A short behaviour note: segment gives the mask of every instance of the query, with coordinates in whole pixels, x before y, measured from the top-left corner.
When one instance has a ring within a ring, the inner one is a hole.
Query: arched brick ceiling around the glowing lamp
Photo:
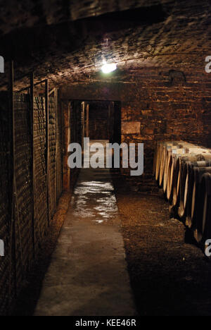
[[[112,80],[129,83],[143,68],[203,70],[211,55],[207,0],[20,3],[1,6],[0,20],[0,55],[15,61],[17,90],[30,71],[52,86],[109,81],[100,73],[107,59],[118,65]],[[1,89],[6,83],[1,75]]]

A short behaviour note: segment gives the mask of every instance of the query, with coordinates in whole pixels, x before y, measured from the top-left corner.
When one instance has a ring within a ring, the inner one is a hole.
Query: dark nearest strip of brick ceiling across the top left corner
[[[67,20],[100,16],[114,11],[166,4],[168,0],[3,0],[0,8],[0,33],[20,27],[55,25]]]

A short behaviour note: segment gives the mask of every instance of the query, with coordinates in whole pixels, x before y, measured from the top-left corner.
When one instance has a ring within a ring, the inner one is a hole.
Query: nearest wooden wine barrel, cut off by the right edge
[[[205,240],[211,237],[211,169],[209,173],[204,173],[201,178],[197,202],[194,236],[198,243],[204,244]]]

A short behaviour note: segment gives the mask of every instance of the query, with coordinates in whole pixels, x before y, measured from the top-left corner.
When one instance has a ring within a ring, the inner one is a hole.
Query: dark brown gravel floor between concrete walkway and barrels
[[[211,264],[185,243],[162,195],[134,193],[113,176],[129,276],[140,315],[210,316]]]

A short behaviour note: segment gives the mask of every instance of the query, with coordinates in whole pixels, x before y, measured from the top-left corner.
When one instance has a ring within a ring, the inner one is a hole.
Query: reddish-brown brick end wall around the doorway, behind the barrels
[[[110,82],[69,85],[61,97],[120,101],[122,142],[144,143],[145,173],[151,173],[158,140],[182,139],[211,147],[210,91],[211,74],[205,73],[202,62],[184,72],[143,68],[124,82],[114,75]]]

